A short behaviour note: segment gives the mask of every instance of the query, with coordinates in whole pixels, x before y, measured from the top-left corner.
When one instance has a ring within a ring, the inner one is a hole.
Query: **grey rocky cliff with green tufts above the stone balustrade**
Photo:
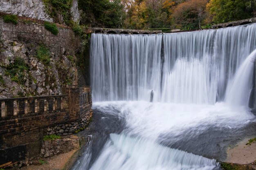
[[[36,21],[0,17],[0,98],[60,95],[67,84],[78,84],[79,42],[68,28],[53,35]]]

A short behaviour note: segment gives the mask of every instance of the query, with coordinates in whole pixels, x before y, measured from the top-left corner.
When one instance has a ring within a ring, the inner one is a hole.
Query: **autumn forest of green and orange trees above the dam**
[[[124,29],[201,29],[256,16],[256,0],[79,0],[80,24]]]

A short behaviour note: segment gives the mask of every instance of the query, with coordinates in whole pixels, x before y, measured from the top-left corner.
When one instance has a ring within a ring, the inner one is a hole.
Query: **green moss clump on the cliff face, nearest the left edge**
[[[16,57],[13,63],[6,66],[5,75],[9,75],[13,82],[25,84],[28,69],[24,59]]]

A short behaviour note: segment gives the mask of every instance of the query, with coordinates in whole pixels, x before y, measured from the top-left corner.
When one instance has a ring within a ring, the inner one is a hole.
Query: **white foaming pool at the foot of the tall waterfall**
[[[255,121],[255,116],[247,107],[233,108],[224,102],[215,105],[96,102],[94,108],[106,114],[118,114],[126,120],[127,133],[150,139],[157,139],[166,133],[179,136],[190,132],[193,136],[204,132],[207,127],[235,129]],[[115,110],[119,110],[119,113]]]

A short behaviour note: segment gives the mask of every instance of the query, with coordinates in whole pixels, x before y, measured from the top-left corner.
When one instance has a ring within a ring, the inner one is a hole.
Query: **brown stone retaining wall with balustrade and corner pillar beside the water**
[[[66,135],[66,125],[77,130],[88,126],[92,117],[90,88],[70,86],[66,93],[0,99],[0,167],[40,155],[43,136],[55,128],[58,132],[54,134]],[[58,127],[62,126],[65,130],[59,132]]]

